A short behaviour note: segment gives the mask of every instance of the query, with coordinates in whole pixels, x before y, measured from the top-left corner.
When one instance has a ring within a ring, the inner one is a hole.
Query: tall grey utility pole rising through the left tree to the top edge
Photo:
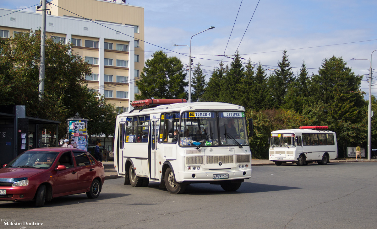
[[[46,0],[42,2],[42,26],[41,26],[41,60],[39,66],[39,93],[42,97],[44,93],[44,51],[46,44]]]

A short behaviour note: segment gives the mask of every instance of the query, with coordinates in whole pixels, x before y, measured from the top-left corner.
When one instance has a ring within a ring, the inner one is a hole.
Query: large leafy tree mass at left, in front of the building
[[[0,105],[25,105],[26,116],[60,121],[59,136],[67,134],[66,119],[79,113],[89,119],[90,135],[113,135],[114,107],[87,88],[90,65],[72,53],[72,44],[46,39],[44,93],[39,98],[40,31],[3,40],[0,58]],[[49,127],[55,134],[55,127]],[[51,143],[52,144],[52,143]]]

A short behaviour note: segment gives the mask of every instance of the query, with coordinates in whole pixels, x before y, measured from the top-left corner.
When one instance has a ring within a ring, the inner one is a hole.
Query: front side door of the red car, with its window
[[[60,165],[65,165],[67,169],[56,171],[56,174],[54,175],[55,187],[53,194],[76,191],[78,176],[77,169],[72,160],[72,152],[68,151],[61,154],[58,162]]]

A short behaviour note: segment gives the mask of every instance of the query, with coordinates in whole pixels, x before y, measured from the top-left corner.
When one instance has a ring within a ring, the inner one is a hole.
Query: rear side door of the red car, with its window
[[[95,166],[84,151],[73,151],[78,176],[77,190],[88,189],[95,176]]]

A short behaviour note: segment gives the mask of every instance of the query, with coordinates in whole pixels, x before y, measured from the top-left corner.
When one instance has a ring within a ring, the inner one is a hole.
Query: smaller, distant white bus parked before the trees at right
[[[336,134],[326,126],[305,126],[299,129],[271,132],[269,159],[275,165],[293,162],[307,165],[317,162],[326,165],[338,157]]]

